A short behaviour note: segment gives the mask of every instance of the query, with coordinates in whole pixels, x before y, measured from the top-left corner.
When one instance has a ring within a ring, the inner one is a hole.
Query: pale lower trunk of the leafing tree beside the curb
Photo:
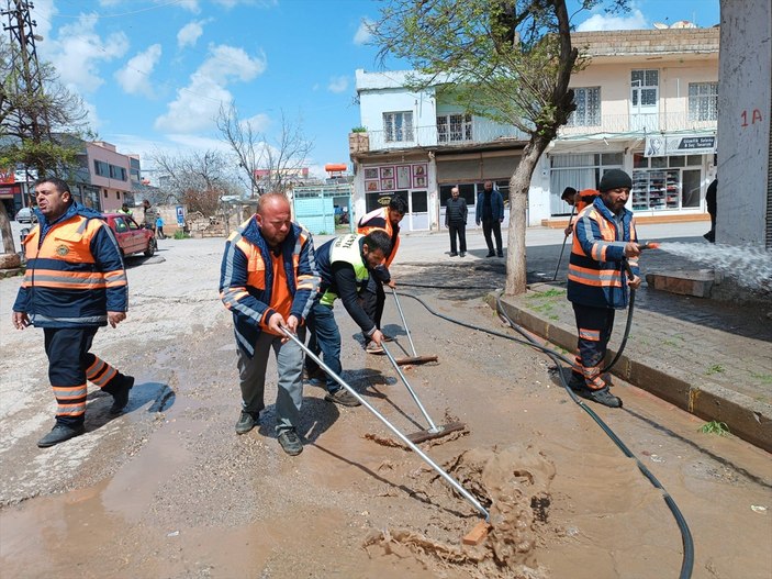
[[[533,137],[510,179],[510,231],[506,240],[506,286],[504,293],[517,296],[526,290],[525,230],[530,178],[549,140]]]

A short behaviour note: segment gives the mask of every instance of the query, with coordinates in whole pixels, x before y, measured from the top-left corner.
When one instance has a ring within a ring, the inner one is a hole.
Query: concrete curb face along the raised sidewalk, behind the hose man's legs
[[[489,293],[485,301],[495,310],[496,296]],[[529,332],[568,352],[575,350],[574,327],[547,320],[506,298],[502,298],[502,308],[513,322]],[[609,348],[608,352],[612,357],[616,356],[615,350]],[[624,354],[612,374],[695,416],[706,421],[724,422],[734,435],[772,453],[772,405],[770,404],[732,392],[719,385],[706,382],[703,376],[686,375],[678,368],[656,367],[654,364],[631,359]]]

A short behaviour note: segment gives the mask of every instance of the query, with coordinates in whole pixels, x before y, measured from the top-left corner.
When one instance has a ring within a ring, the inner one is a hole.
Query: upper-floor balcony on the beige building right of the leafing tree
[[[686,112],[654,114],[607,114],[598,124],[564,125],[560,138],[607,133],[674,133],[682,131],[715,131],[717,121],[697,121]]]

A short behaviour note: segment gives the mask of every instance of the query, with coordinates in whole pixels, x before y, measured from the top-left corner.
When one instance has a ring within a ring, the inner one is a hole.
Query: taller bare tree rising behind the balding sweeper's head
[[[290,122],[283,112],[281,131],[273,144],[257,131],[253,121],[239,119],[234,103],[220,108],[217,129],[238,159],[251,197],[270,191],[287,192],[313,149],[313,142],[305,138],[301,124]],[[258,169],[265,169],[260,176],[256,172]]]

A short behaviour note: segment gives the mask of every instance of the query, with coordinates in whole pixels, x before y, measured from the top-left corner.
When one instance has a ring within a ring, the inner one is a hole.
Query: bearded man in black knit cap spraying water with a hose
[[[625,209],[633,180],[620,169],[605,172],[596,197],[577,218],[569,260],[568,299],[579,332],[569,386],[579,396],[611,408],[622,400],[611,393],[601,368],[614,329],[614,311],[627,307],[629,289],[640,286],[640,255],[633,212]],[[629,263],[633,279],[625,275]]]

